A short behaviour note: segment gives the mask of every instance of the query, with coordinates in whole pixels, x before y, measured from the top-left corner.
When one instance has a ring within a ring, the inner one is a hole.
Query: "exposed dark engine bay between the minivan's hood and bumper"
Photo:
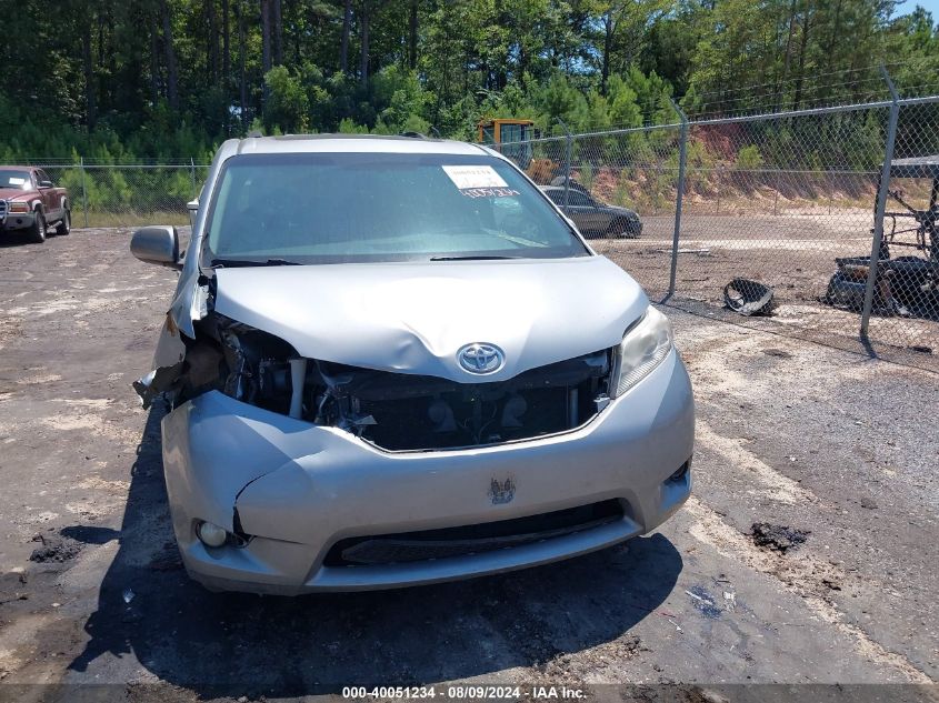
[[[303,359],[286,341],[216,312],[196,322],[196,335],[183,338],[169,384],[154,384],[152,374],[136,384],[144,403],[159,393],[179,404],[218,390],[388,451],[481,446],[580,426],[609,403],[615,362],[607,349],[507,381],[459,383]]]

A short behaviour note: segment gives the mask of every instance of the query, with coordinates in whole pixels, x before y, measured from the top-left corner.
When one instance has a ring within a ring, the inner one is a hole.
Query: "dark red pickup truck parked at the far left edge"
[[[0,234],[24,230],[33,242],[50,232],[68,234],[71,204],[64,188],[56,188],[42,169],[0,165]]]

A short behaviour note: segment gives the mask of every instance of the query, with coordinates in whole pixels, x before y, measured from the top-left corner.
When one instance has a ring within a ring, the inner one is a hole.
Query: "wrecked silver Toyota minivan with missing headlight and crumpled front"
[[[227,141],[153,370],[189,574],[299,594],[599,550],[688,499],[695,410],[666,317],[490,149]]]

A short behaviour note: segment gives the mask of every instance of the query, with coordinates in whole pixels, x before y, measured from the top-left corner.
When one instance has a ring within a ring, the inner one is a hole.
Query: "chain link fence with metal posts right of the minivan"
[[[939,371],[939,97],[681,118],[500,149],[653,301]]]

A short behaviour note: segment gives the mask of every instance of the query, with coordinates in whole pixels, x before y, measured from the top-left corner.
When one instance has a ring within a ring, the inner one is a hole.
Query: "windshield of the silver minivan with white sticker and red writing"
[[[242,154],[209,210],[204,265],[559,259],[589,252],[486,154]]]

